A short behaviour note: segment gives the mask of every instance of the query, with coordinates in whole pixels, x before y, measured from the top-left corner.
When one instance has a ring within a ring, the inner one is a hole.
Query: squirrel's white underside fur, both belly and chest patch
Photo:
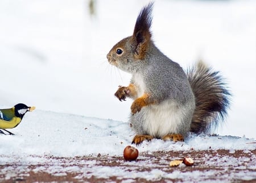
[[[138,96],[146,90],[143,78],[140,74],[134,74],[135,84],[138,86]],[[135,130],[138,133],[162,138],[167,134],[182,134],[180,127],[184,126],[184,119],[188,115],[188,106],[182,106],[174,100],[166,100],[159,105],[149,105],[142,107],[142,114],[137,114],[131,123],[136,123]],[[188,122],[189,124],[189,122]],[[138,129],[142,130],[138,130]],[[142,129],[141,129],[142,128]]]

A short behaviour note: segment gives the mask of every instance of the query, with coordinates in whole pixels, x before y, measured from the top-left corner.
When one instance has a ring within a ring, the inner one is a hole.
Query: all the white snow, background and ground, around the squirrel
[[[129,84],[130,75],[110,66],[106,54],[117,41],[132,34],[138,12],[147,2],[97,1],[96,15],[90,16],[88,2],[82,0],[0,1],[0,107],[36,106],[10,130],[16,135],[0,135],[0,165],[42,162],[52,164],[47,171],[58,172],[63,162],[51,162],[50,156],[122,156],[135,135],[127,123],[131,100],[121,103],[113,94],[118,85]],[[155,2],[152,33],[160,50],[183,68],[203,59],[221,70],[233,98],[226,122],[215,131],[220,135],[189,134],[185,142],[178,143],[153,139],[138,146],[139,152],[210,148],[250,153],[256,148],[255,6],[256,1],[249,0]],[[236,159],[226,161],[238,163]],[[145,175],[94,168],[96,161],[79,164],[98,177],[108,176],[108,172],[127,177],[127,182]],[[1,171],[13,177],[19,169],[11,168]],[[249,168],[254,173],[244,180],[256,176],[255,165]],[[215,176],[210,171],[166,174],[152,169],[146,178],[188,174]],[[243,177],[239,173],[232,176]]]

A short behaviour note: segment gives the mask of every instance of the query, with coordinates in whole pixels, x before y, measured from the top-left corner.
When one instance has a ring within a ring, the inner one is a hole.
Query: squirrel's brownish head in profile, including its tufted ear
[[[151,43],[151,22],[153,3],[143,7],[138,15],[132,36],[122,39],[107,55],[109,63],[126,72],[138,69],[144,61]]]

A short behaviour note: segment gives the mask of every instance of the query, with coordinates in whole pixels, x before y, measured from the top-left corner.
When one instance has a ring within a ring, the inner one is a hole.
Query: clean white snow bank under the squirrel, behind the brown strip
[[[36,110],[28,113],[15,135],[0,135],[0,154],[15,157],[45,156],[75,157],[88,155],[122,155],[135,135],[129,123],[97,119],[72,114]],[[254,139],[245,136],[189,134],[185,142],[164,142],[153,139],[138,145],[139,152],[189,151],[207,149],[250,150]]]

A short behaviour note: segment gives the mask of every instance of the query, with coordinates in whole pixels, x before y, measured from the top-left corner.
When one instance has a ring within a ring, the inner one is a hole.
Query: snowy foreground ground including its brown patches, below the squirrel
[[[39,173],[38,181],[44,180],[40,172],[52,178],[74,173],[82,182],[114,182],[106,181],[110,177],[122,182],[138,182],[138,178],[156,182],[256,180],[256,142],[245,137],[189,135],[185,142],[177,143],[153,139],[138,145],[137,161],[129,162],[122,158],[133,138],[127,123],[35,110],[11,131],[16,135],[0,135],[0,182],[26,180],[31,172]],[[218,154],[218,149],[228,153]],[[169,167],[170,161],[183,158],[183,153],[192,156],[195,166]],[[105,179],[84,180],[93,176]]]

